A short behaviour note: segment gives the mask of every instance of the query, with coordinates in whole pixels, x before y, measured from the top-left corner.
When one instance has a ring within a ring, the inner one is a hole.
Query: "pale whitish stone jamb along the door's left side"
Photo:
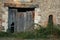
[[[2,15],[2,20],[3,20],[3,22],[2,22],[2,26],[4,27],[4,32],[6,32],[7,31],[7,29],[8,29],[8,8],[7,7],[3,7],[2,8],[3,9],[3,11],[4,11],[4,14]]]

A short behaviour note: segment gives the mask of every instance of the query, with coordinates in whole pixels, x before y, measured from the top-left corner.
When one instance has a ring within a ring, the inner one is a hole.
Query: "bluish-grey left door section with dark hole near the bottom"
[[[16,9],[9,9],[8,14],[8,30],[14,32],[16,30]]]

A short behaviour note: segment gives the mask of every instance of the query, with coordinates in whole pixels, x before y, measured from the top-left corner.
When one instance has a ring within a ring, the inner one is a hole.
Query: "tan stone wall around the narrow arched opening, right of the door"
[[[58,14],[60,11],[60,0],[39,0],[37,1],[40,8],[41,23],[46,26],[48,23],[49,15],[53,15],[54,24],[60,24]]]

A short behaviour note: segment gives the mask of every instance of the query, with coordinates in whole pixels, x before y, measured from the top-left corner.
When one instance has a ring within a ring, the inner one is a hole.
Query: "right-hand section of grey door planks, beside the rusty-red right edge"
[[[33,20],[33,12],[32,11],[27,11],[24,14],[24,30],[29,30],[33,27],[34,20]]]

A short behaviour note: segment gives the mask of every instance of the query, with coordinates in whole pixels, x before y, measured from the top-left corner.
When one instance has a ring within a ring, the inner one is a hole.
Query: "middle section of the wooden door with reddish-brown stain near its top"
[[[24,13],[16,13],[17,32],[23,31],[24,29]]]

